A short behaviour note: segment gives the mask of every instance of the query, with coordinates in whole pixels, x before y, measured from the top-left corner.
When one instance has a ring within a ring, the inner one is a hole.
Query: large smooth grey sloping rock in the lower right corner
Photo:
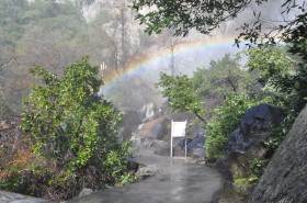
[[[275,151],[261,181],[252,193],[251,203],[307,202],[307,106]]]

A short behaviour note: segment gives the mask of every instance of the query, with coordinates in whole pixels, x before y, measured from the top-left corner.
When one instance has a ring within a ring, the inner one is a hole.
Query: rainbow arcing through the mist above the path
[[[225,36],[225,37],[212,37],[212,38],[204,38],[197,40],[194,42],[183,43],[175,46],[174,56],[184,56],[187,54],[196,54],[201,50],[208,52],[211,49],[221,49],[225,50],[227,48],[232,48],[235,43],[235,36]],[[239,50],[239,49],[238,49]],[[109,88],[114,84],[116,81],[121,80],[125,76],[135,76],[146,69],[152,68],[155,65],[158,65],[159,61],[162,59],[167,59],[171,56],[171,53],[168,48],[158,50],[150,55],[143,56],[141,59],[132,61],[125,71],[121,72],[112,72],[103,78],[105,84],[104,88]],[[211,58],[208,58],[211,59]],[[104,89],[103,88],[103,89]]]

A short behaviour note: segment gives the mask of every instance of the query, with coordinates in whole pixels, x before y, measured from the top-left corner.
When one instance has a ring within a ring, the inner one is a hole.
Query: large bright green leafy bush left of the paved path
[[[68,66],[61,79],[34,67],[32,72],[44,86],[35,84],[23,103],[21,127],[31,134],[33,150],[42,160],[33,172],[68,196],[76,192],[65,188],[69,184],[76,190],[101,188],[126,176],[129,145],[117,137],[122,113],[96,95],[102,84],[98,71],[88,58]],[[54,167],[45,168],[48,165]],[[88,176],[92,176],[89,182]]]

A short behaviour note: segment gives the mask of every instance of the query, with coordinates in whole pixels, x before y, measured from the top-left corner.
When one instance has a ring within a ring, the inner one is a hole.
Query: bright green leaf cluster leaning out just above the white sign
[[[168,98],[173,111],[194,113],[204,121],[202,115],[205,110],[193,89],[192,80],[186,75],[171,77],[161,74],[160,81],[156,86],[163,88],[161,94]]]

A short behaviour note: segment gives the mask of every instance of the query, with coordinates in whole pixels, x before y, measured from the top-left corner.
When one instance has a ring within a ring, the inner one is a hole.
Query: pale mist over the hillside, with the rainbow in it
[[[221,23],[203,35],[191,31],[187,37],[172,36],[172,31],[148,36],[129,9],[132,1],[76,0],[21,1],[3,4],[3,24],[0,32],[0,84],[7,106],[18,111],[21,99],[36,82],[29,74],[34,65],[60,76],[65,67],[84,55],[92,64],[105,64],[102,91],[106,100],[120,108],[139,109],[163,99],[154,84],[160,72],[192,75],[198,67],[207,68],[211,60],[225,54],[236,54],[246,47],[235,46],[240,25],[261,12],[269,19],[266,26],[296,13],[281,16],[281,2],[270,1],[261,7],[251,4],[234,20]],[[12,12],[10,11],[12,10]],[[13,10],[19,10],[15,16]],[[270,20],[271,19],[271,20]],[[8,26],[7,26],[8,25]],[[2,69],[2,68],[0,68]]]

